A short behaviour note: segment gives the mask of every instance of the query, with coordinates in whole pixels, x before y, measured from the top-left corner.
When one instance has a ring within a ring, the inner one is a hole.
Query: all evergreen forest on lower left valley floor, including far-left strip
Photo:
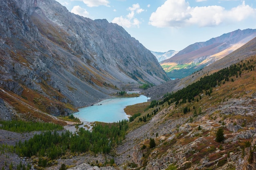
[[[60,131],[63,129],[60,125],[51,128],[53,124],[50,123],[34,124],[15,120],[1,121],[0,123],[2,124],[1,129],[9,129],[9,131],[29,132],[33,128],[44,131],[25,142],[18,142],[11,150],[20,157],[38,156],[38,165],[46,167],[47,161],[57,159],[67,152],[110,153],[111,149],[125,138],[128,129],[127,122],[128,120],[111,124],[96,123],[92,131],[79,128],[78,132],[74,134],[70,131]],[[22,126],[24,127],[22,128]],[[8,146],[2,145],[2,151],[7,149],[10,150]]]

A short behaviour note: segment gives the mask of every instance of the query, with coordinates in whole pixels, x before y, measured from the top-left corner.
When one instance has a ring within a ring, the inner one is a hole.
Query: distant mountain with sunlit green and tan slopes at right
[[[184,78],[240,48],[256,37],[256,29],[236,30],[191,44],[160,64],[171,78]]]

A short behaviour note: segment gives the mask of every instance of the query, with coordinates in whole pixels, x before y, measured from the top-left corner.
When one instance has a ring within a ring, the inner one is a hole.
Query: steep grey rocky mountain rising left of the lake
[[[0,19],[0,98],[19,116],[66,115],[169,80],[124,28],[70,13],[55,0],[1,0]]]

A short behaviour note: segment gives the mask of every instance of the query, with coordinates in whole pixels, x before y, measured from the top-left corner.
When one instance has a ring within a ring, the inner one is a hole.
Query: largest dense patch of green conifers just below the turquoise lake
[[[83,153],[92,151],[93,153],[110,153],[115,144],[119,144],[124,139],[128,129],[128,120],[122,120],[113,124],[96,124],[92,132],[80,128],[77,133],[70,131],[58,133],[57,131],[46,131],[34,135],[33,138],[25,142],[18,142],[15,151],[21,157],[48,157],[56,159],[65,155],[67,151],[72,153]]]

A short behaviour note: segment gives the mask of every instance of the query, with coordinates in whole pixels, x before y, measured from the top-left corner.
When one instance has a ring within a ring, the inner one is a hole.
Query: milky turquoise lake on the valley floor
[[[128,115],[124,112],[126,106],[147,101],[148,98],[143,95],[134,98],[110,98],[93,106],[83,107],[73,115],[82,122],[119,122],[119,120],[128,119]]]

